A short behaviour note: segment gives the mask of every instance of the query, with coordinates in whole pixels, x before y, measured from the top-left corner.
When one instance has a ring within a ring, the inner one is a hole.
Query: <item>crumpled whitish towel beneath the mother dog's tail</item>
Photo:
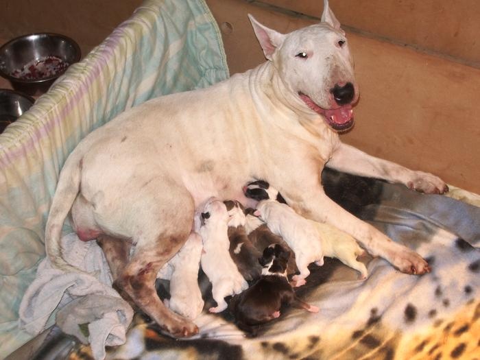
[[[20,304],[20,326],[38,335],[58,309],[56,320],[62,331],[90,343],[95,359],[104,359],[105,346],[125,342],[132,308],[112,289],[110,269],[96,241],[80,241],[75,234],[61,241],[64,259],[91,274],[66,273],[44,259]],[[88,336],[82,333],[86,324]]]

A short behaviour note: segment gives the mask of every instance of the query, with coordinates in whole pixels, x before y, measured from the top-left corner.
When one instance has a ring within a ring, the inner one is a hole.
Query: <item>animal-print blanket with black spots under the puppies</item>
[[[107,359],[477,359],[480,353],[480,197],[453,188],[451,196],[424,195],[402,185],[326,169],[324,187],[348,211],[394,241],[419,252],[432,271],[398,272],[387,261],[365,259],[369,277],[325,258],[311,265],[298,296],[319,313],[285,309],[248,338],[228,311],[215,305],[201,274],[206,299],[195,323],[200,334],[173,340],[137,314],[126,344]],[[466,202],[470,202],[467,204]],[[476,204],[477,206],[475,206]],[[159,284],[167,296],[168,283]],[[80,346],[69,359],[88,359]]]

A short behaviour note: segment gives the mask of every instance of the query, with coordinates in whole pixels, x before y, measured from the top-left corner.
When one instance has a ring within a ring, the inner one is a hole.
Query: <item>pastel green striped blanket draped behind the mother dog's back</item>
[[[45,257],[45,223],[72,149],[126,108],[228,75],[204,1],[146,0],[0,134],[1,359],[32,337],[19,327],[19,306]]]

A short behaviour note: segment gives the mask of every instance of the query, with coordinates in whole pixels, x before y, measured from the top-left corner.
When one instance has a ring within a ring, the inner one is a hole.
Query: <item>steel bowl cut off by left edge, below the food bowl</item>
[[[0,134],[13,123],[23,112],[27,111],[35,102],[33,97],[0,88]]]

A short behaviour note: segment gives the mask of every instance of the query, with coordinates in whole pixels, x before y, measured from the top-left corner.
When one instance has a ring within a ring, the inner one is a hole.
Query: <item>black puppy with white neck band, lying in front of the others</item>
[[[251,287],[230,300],[229,310],[235,315],[237,326],[250,335],[256,335],[261,324],[280,316],[282,305],[305,309],[313,313],[318,308],[297,298],[286,275],[290,252],[272,244],[259,258],[262,276]]]

